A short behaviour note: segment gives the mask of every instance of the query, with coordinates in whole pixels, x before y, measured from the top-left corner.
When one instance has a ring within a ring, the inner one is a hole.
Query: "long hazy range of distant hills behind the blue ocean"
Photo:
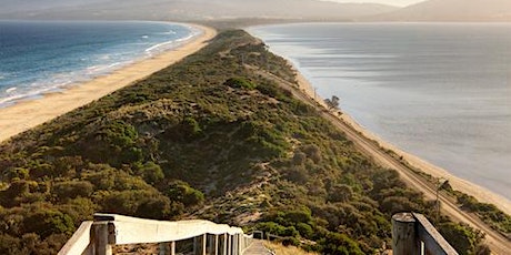
[[[317,0],[94,0],[12,1],[2,3],[3,19],[217,20],[233,18],[349,20],[395,10],[383,4]]]

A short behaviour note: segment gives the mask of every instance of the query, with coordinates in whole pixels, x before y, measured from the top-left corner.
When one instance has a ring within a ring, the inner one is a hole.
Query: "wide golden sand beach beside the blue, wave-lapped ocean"
[[[0,109],[0,143],[182,60],[206,47],[217,34],[217,31],[209,27],[184,26],[200,30],[201,33],[174,49],[137,61],[109,74],[72,84],[59,92],[46,93],[41,99],[20,101]]]

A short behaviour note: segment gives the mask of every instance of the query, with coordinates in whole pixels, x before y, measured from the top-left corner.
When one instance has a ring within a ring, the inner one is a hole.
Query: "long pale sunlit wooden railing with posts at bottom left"
[[[193,254],[241,255],[252,236],[239,227],[192,220],[164,222],[94,214],[84,222],[59,252],[59,255],[110,255],[113,245],[159,244],[159,254],[176,254],[176,242],[193,238]],[[198,242],[200,239],[200,242]]]

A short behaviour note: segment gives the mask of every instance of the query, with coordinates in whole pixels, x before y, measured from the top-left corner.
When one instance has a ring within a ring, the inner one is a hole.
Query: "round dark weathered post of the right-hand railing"
[[[415,218],[411,213],[398,213],[392,216],[393,255],[419,254],[415,236]]]

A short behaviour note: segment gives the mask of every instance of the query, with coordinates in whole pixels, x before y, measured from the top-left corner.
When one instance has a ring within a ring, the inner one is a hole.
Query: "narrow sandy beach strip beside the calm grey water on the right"
[[[308,96],[313,99],[317,103],[321,104],[322,106],[327,108],[324,100],[314,93],[314,89],[312,84],[307,80],[307,78],[298,70],[294,64],[288,60],[288,63],[295,70],[297,81],[299,84],[299,90],[305,93]],[[511,202],[494,193],[489,191],[485,187],[471,183],[467,180],[461,177],[454,176],[453,174],[449,173],[447,170],[435,166],[434,164],[427,162],[419,156],[415,156],[411,153],[408,153],[398,146],[384,141],[383,139],[379,137],[377,134],[372,133],[371,131],[367,130],[357,121],[345,113],[342,110],[337,111],[340,114],[332,114],[335,115],[337,119],[350,125],[354,131],[359,132],[362,136],[368,137],[369,140],[375,141],[381,147],[393,151],[398,155],[402,156],[404,161],[407,161],[411,166],[418,169],[419,171],[431,175],[434,178],[445,178],[449,180],[449,184],[452,186],[453,190],[462,192],[464,194],[471,195],[475,197],[481,203],[489,203],[495,205],[499,210],[504,212],[508,215],[511,215]]]

